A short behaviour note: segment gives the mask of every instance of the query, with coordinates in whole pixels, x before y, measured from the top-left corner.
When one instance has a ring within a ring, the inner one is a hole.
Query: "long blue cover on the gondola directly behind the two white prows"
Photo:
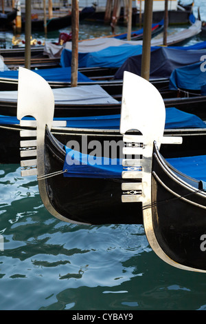
[[[171,128],[206,128],[206,124],[194,114],[182,112],[176,108],[166,108],[165,129]],[[29,119],[25,117],[24,119]],[[54,120],[66,120],[68,128],[94,128],[119,130],[120,114],[94,117],[62,117]],[[0,115],[0,125],[19,124],[16,117]]]

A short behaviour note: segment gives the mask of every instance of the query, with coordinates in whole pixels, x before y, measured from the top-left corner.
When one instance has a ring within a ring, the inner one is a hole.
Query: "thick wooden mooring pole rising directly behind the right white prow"
[[[141,55],[141,77],[150,79],[150,47],[152,34],[152,0],[145,1],[144,5],[144,23],[143,23],[143,44]]]

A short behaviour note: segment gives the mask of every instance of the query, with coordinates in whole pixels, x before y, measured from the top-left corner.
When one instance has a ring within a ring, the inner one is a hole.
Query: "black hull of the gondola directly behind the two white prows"
[[[2,123],[0,117],[0,163],[20,163],[21,156],[19,154],[19,142],[21,141],[20,134],[26,130],[35,130],[34,125],[23,126],[19,123],[10,121],[10,117],[5,117],[8,122]],[[56,125],[62,123],[62,125]],[[51,133],[55,139],[60,141],[62,145],[69,145],[68,143],[78,142],[80,147],[84,145],[84,140],[87,143],[95,143],[96,139],[104,145],[104,142],[117,145],[117,152],[122,147],[122,135],[119,130],[112,128],[84,128],[80,125],[76,127],[65,127],[64,119],[55,119],[52,125]],[[170,128],[165,129],[165,136],[182,136],[182,145],[161,145],[160,152],[166,158],[175,158],[176,156],[192,156],[192,155],[206,155],[206,128]],[[31,138],[32,139],[32,138]],[[116,144],[115,144],[116,143]],[[121,144],[121,146],[120,146]]]

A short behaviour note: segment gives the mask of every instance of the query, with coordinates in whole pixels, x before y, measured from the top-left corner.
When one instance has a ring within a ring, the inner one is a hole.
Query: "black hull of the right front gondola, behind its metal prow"
[[[155,150],[152,160],[152,225],[163,253],[178,267],[206,270],[206,192],[179,174]]]

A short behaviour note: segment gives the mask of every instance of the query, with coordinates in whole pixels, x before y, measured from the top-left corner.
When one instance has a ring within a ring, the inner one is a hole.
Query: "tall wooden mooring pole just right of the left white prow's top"
[[[71,87],[78,84],[79,1],[71,1]]]

